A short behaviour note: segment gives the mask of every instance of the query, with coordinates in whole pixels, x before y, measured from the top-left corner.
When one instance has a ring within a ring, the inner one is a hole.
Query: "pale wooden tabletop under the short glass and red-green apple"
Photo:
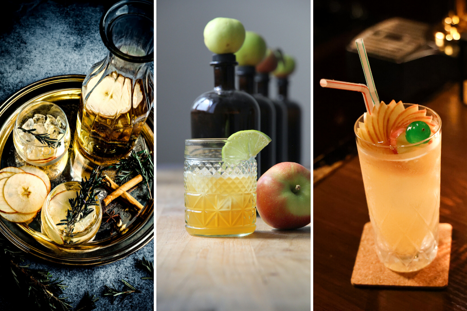
[[[185,230],[183,168],[157,168],[158,311],[311,309],[311,226],[253,234],[191,236]]]

